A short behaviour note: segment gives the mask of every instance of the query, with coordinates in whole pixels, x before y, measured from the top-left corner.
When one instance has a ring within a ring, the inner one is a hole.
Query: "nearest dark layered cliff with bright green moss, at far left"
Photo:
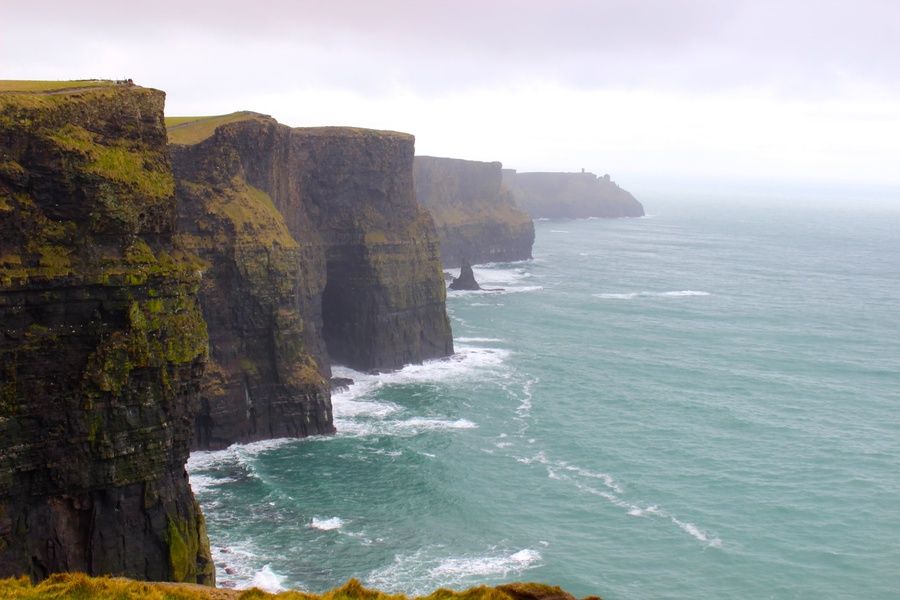
[[[207,331],[164,94],[28,83],[0,91],[0,576],[212,583],[184,469]]]

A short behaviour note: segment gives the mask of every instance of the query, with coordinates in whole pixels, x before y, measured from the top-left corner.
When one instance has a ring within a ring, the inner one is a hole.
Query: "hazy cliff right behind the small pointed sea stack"
[[[531,258],[534,223],[501,170],[498,162],[416,157],[416,199],[434,218],[445,267]]]

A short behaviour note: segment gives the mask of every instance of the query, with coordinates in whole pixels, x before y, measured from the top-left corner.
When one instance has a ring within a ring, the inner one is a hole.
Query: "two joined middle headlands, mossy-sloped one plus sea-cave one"
[[[255,113],[171,123],[179,239],[211,265],[199,447],[333,431],[332,360],[384,370],[452,353],[412,136]]]

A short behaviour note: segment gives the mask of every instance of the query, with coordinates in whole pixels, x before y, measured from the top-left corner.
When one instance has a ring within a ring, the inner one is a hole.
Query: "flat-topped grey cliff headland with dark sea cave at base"
[[[453,353],[438,238],[413,189],[414,143],[390,131],[291,131],[300,194],[276,204],[306,210],[322,236],[323,336],[331,357],[356,369]]]

